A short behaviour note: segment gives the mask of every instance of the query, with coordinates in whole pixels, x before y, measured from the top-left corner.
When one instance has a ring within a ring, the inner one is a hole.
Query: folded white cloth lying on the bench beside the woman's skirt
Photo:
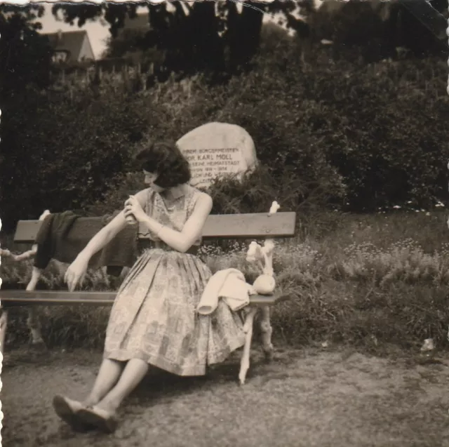
[[[210,277],[196,310],[201,315],[212,314],[222,298],[234,311],[238,311],[250,303],[250,295],[256,292],[245,281],[245,276],[238,269],[219,270]]]

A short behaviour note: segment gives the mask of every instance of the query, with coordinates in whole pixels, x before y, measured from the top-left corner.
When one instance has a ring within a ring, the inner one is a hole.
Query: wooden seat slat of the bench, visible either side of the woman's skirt
[[[112,305],[116,292],[0,291],[1,307],[25,305]],[[250,305],[273,305],[276,295],[251,295]]]

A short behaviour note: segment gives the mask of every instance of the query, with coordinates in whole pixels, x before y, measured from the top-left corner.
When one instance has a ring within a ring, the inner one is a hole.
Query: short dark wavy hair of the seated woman
[[[189,182],[192,178],[189,162],[173,142],[154,142],[135,156],[140,168],[156,173],[154,183],[161,188],[171,188]]]

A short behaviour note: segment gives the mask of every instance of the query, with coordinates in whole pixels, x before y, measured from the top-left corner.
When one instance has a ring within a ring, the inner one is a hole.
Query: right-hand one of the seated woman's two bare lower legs
[[[145,377],[149,369],[146,361],[131,359],[126,364],[119,382],[116,386],[98,403],[98,407],[106,411],[115,412],[119,408],[123,399],[135,389]]]

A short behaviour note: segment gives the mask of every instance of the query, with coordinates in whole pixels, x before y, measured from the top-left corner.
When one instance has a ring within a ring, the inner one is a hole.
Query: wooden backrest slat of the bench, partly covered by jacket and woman
[[[79,218],[76,226],[100,229],[102,218]],[[203,229],[203,239],[262,239],[295,236],[296,213],[215,214],[210,215]],[[33,243],[42,222],[19,220],[14,241]],[[129,227],[129,231],[134,231]]]

